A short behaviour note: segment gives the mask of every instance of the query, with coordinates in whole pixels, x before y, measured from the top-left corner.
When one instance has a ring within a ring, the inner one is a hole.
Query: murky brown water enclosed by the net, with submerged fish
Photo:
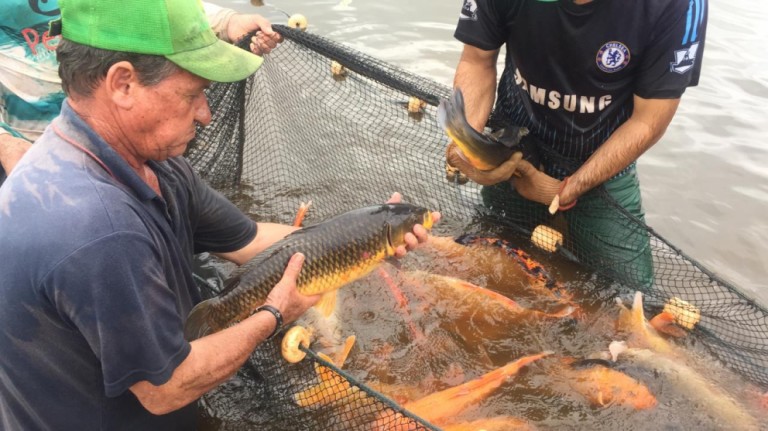
[[[665,355],[701,376],[705,383],[695,389],[717,393],[706,399],[735,400],[739,409],[754,417],[750,428],[729,423],[696,402],[694,389],[664,372],[621,359],[613,364],[617,374],[608,381],[615,382],[619,372],[625,373],[632,385],[652,394],[654,407],[633,408],[612,399],[626,393],[628,400],[647,401],[649,397],[639,395],[635,387],[621,385],[626,392],[615,393],[606,387],[601,391],[593,382],[586,383],[587,390],[578,387],[578,382],[596,375],[600,364],[605,364],[580,361],[605,352],[613,340],[627,339],[617,332],[619,308],[612,295],[601,297],[610,289],[568,262],[554,261],[543,253],[531,256],[544,263],[547,276],[535,276],[501,248],[465,248],[450,239],[438,240],[399,261],[399,268],[384,264],[342,288],[338,323],[332,328],[303,318],[300,324],[315,328],[312,348],[335,356],[342,341],[354,335],[344,371],[401,404],[479,378],[521,357],[553,352],[504,379],[471,407],[461,409],[460,403],[447,400],[455,405],[451,420],[456,422],[505,416],[542,430],[654,431],[757,430],[757,421],[768,423],[768,410],[760,407],[760,390],[712,360],[693,339],[671,341],[680,350]],[[475,286],[514,298],[523,308],[481,293]],[[569,360],[577,361],[576,366],[568,365]],[[254,402],[237,387],[219,392],[216,399],[219,411],[237,411]],[[338,406],[313,408],[323,414],[324,409]],[[223,428],[207,429],[243,429],[243,425],[238,419],[225,421]],[[269,423],[259,425],[272,429]]]

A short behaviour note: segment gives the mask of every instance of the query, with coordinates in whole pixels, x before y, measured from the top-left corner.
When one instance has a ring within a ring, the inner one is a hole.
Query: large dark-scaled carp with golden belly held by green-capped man
[[[267,299],[295,253],[305,256],[296,283],[303,295],[324,294],[318,305],[334,304],[336,290],[371,272],[421,224],[432,227],[432,212],[410,204],[353,210],[294,231],[243,264],[216,297],[197,304],[184,328],[194,340],[245,319]]]

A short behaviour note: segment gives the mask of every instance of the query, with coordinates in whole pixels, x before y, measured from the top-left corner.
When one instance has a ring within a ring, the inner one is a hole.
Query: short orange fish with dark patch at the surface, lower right
[[[570,389],[596,407],[620,405],[636,410],[656,406],[656,397],[642,382],[611,368],[608,361],[565,359],[551,372],[561,376]]]

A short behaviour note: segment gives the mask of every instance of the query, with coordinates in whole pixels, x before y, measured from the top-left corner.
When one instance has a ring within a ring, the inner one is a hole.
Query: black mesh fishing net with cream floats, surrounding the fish
[[[213,120],[187,154],[255,220],[291,223],[299,204],[313,201],[305,221],[311,225],[398,191],[404,201],[442,213],[438,233],[493,232],[534,253],[555,250],[553,256],[589,274],[582,280],[595,296],[640,290],[648,312],[674,301],[691,304],[696,312],[683,314],[680,324],[693,328],[697,343],[768,386],[768,311],[622,209],[604,188],[555,216],[543,205],[484,205],[479,186],[446,178],[447,138],[436,107],[450,88],[309,32],[275,28],[285,42],[256,74],[208,91]],[[598,214],[600,232],[594,218],[580,217],[589,214]],[[613,253],[616,244],[602,247],[606,237],[633,251]],[[376,429],[371,424],[386,417],[399,418],[399,428],[380,429],[437,429],[311,351],[288,364],[277,343],[254,352],[225,384],[230,391],[203,399],[205,415],[219,429]],[[300,407],[297,394],[318,383],[316,366],[337,373],[337,391],[345,395],[325,408]],[[233,388],[249,394],[248,404],[223,411]]]

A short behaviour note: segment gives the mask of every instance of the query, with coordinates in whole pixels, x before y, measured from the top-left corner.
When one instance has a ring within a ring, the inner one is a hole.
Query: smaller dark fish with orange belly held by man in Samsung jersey
[[[489,171],[506,162],[513,153],[525,155],[521,139],[528,134],[524,127],[509,127],[499,136],[485,135],[467,122],[464,113],[464,95],[456,88],[450,100],[443,100],[437,107],[437,121],[445,133],[461,150],[464,160],[482,171]],[[535,163],[534,163],[535,165]]]

